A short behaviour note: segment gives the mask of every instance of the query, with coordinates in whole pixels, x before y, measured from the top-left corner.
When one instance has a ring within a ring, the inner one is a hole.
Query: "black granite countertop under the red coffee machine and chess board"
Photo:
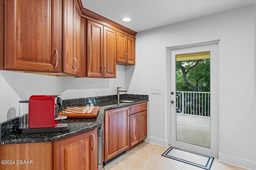
[[[146,96],[146,95],[145,95]],[[124,100],[124,99],[123,99]],[[83,133],[86,131],[90,131],[97,127],[101,127],[104,121],[104,111],[108,109],[114,109],[118,107],[125,107],[134,104],[140,104],[143,102],[148,102],[148,99],[128,99],[125,100],[133,100],[132,103],[126,102],[118,102],[117,100],[108,100],[107,102],[96,102],[94,106],[100,106],[97,117],[95,118],[87,118],[87,119],[64,119],[60,120],[59,123],[66,123],[70,125],[70,130],[61,132],[61,133],[34,133],[34,134],[18,134],[16,131],[12,131],[8,134],[8,137],[0,140],[0,145],[6,144],[19,144],[19,143],[40,143],[40,142],[52,142],[58,141],[60,139],[64,139],[66,137],[70,137],[73,135],[77,135],[79,133]],[[74,101],[74,100],[73,100]],[[74,104],[74,103],[73,103]],[[75,105],[73,105],[75,106]],[[85,104],[84,104],[85,106]],[[15,122],[15,119],[12,122]],[[16,125],[17,126],[17,125]],[[13,127],[13,125],[12,125]],[[3,128],[3,126],[2,126]]]

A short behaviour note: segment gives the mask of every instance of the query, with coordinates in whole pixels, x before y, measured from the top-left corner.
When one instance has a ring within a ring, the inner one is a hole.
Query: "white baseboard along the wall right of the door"
[[[230,156],[227,154],[219,153],[219,162],[238,166],[240,168],[245,168],[248,170],[256,170],[256,162],[251,160],[246,160],[243,158],[238,158],[235,156]]]

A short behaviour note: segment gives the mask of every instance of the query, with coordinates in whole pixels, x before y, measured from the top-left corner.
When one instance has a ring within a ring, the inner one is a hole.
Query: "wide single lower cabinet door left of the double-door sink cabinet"
[[[105,161],[129,148],[129,107],[105,111]]]

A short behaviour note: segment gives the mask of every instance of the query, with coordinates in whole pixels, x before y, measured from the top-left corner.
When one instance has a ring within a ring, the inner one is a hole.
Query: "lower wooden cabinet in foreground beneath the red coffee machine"
[[[0,170],[97,170],[97,130],[54,142],[0,145],[0,160],[6,160]]]

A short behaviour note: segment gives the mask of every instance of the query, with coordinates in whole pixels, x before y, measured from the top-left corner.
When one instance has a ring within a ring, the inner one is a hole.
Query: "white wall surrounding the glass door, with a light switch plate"
[[[148,94],[148,140],[166,142],[166,47],[220,39],[220,161],[256,168],[254,6],[136,35],[136,66],[126,67],[130,94]],[[162,95],[152,95],[161,88]],[[216,139],[218,142],[218,139]]]

